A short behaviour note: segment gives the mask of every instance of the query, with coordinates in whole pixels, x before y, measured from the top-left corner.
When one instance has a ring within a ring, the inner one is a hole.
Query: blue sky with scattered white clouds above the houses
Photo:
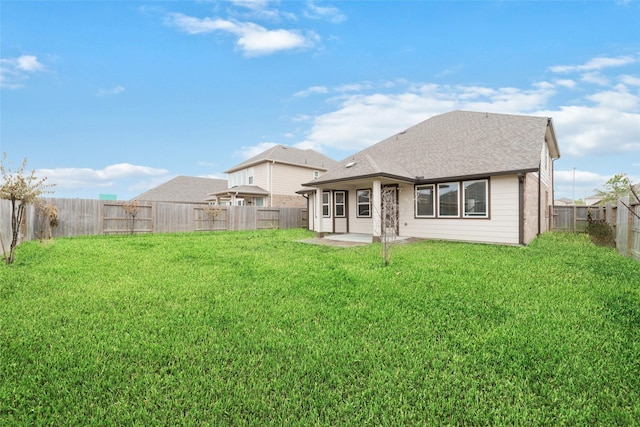
[[[556,198],[640,182],[637,1],[2,0],[0,28],[0,151],[56,197],[341,160],[456,109],[552,117]]]

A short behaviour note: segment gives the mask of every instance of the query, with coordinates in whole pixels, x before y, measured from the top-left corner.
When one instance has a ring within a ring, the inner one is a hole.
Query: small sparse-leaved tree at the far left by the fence
[[[45,184],[47,178],[38,178],[35,171],[25,174],[27,167],[27,158],[22,165],[12,170],[7,162],[7,153],[4,153],[0,161],[0,174],[2,181],[0,182],[0,199],[9,200],[11,202],[11,244],[7,253],[2,247],[2,255],[7,264],[11,264],[15,257],[15,248],[20,240],[20,226],[24,219],[24,213],[28,205],[34,203],[38,197],[47,192],[47,188],[51,185]],[[2,238],[0,236],[0,242]]]

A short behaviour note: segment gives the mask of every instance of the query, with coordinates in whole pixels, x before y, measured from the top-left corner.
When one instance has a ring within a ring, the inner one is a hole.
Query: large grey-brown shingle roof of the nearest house
[[[386,176],[410,182],[538,170],[545,139],[560,157],[550,118],[452,111],[350,156],[304,183]]]

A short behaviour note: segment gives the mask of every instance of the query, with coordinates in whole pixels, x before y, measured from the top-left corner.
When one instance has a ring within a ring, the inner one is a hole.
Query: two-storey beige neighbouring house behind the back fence
[[[337,165],[314,150],[276,145],[225,171],[229,186],[211,191],[207,200],[218,205],[306,207],[297,193],[300,183]]]

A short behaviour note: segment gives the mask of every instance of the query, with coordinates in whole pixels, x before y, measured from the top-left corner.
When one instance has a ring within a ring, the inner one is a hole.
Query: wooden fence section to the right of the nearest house
[[[616,249],[625,256],[640,261],[640,203],[632,198],[620,199],[605,206],[552,206],[553,231],[585,232],[589,214],[597,221],[605,221],[614,228]]]

